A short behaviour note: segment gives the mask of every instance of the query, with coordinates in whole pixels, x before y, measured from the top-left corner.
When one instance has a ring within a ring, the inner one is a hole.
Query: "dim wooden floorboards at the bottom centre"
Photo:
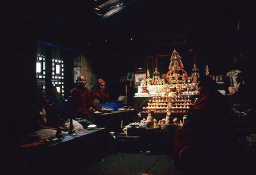
[[[186,174],[177,170],[170,155],[146,155],[118,152],[88,164],[72,174]]]

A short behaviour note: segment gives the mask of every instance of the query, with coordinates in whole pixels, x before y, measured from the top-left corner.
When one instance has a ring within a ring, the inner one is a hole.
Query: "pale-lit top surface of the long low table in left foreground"
[[[50,146],[54,146],[54,145],[61,144],[63,142],[71,141],[72,139],[80,138],[82,136],[89,135],[90,133],[102,131],[103,129],[105,129],[105,128],[83,129],[83,130],[77,131],[76,135],[68,135],[68,134],[63,135],[64,136],[63,139],[57,139],[56,141],[53,141],[52,139],[50,139]]]

